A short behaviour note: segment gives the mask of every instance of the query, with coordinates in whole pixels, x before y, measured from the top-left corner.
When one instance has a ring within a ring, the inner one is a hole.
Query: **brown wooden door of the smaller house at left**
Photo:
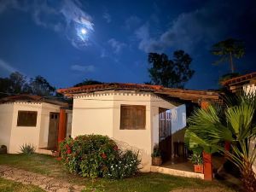
[[[48,148],[57,149],[60,113],[49,113]]]

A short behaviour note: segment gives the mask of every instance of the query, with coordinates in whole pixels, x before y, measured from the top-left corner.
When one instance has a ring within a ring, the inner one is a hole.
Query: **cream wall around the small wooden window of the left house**
[[[42,104],[34,102],[15,102],[14,113],[12,119],[12,130],[9,143],[9,153],[20,153],[20,146],[27,143],[32,144],[38,149]],[[36,126],[17,126],[18,111],[37,111],[37,125]]]

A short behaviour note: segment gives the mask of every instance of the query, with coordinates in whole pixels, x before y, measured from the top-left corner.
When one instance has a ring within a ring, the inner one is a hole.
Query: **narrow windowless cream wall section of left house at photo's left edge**
[[[8,152],[13,123],[13,112],[13,103],[0,104],[0,145],[7,146]]]

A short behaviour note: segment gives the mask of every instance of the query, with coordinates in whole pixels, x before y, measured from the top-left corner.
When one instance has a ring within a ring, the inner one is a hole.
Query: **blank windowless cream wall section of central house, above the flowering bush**
[[[92,133],[113,137],[113,95],[109,93],[73,98],[72,137]]]

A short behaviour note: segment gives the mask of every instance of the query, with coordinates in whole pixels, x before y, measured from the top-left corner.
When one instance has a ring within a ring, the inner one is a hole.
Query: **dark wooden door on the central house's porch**
[[[163,162],[172,157],[172,115],[165,108],[159,109],[159,147]]]

